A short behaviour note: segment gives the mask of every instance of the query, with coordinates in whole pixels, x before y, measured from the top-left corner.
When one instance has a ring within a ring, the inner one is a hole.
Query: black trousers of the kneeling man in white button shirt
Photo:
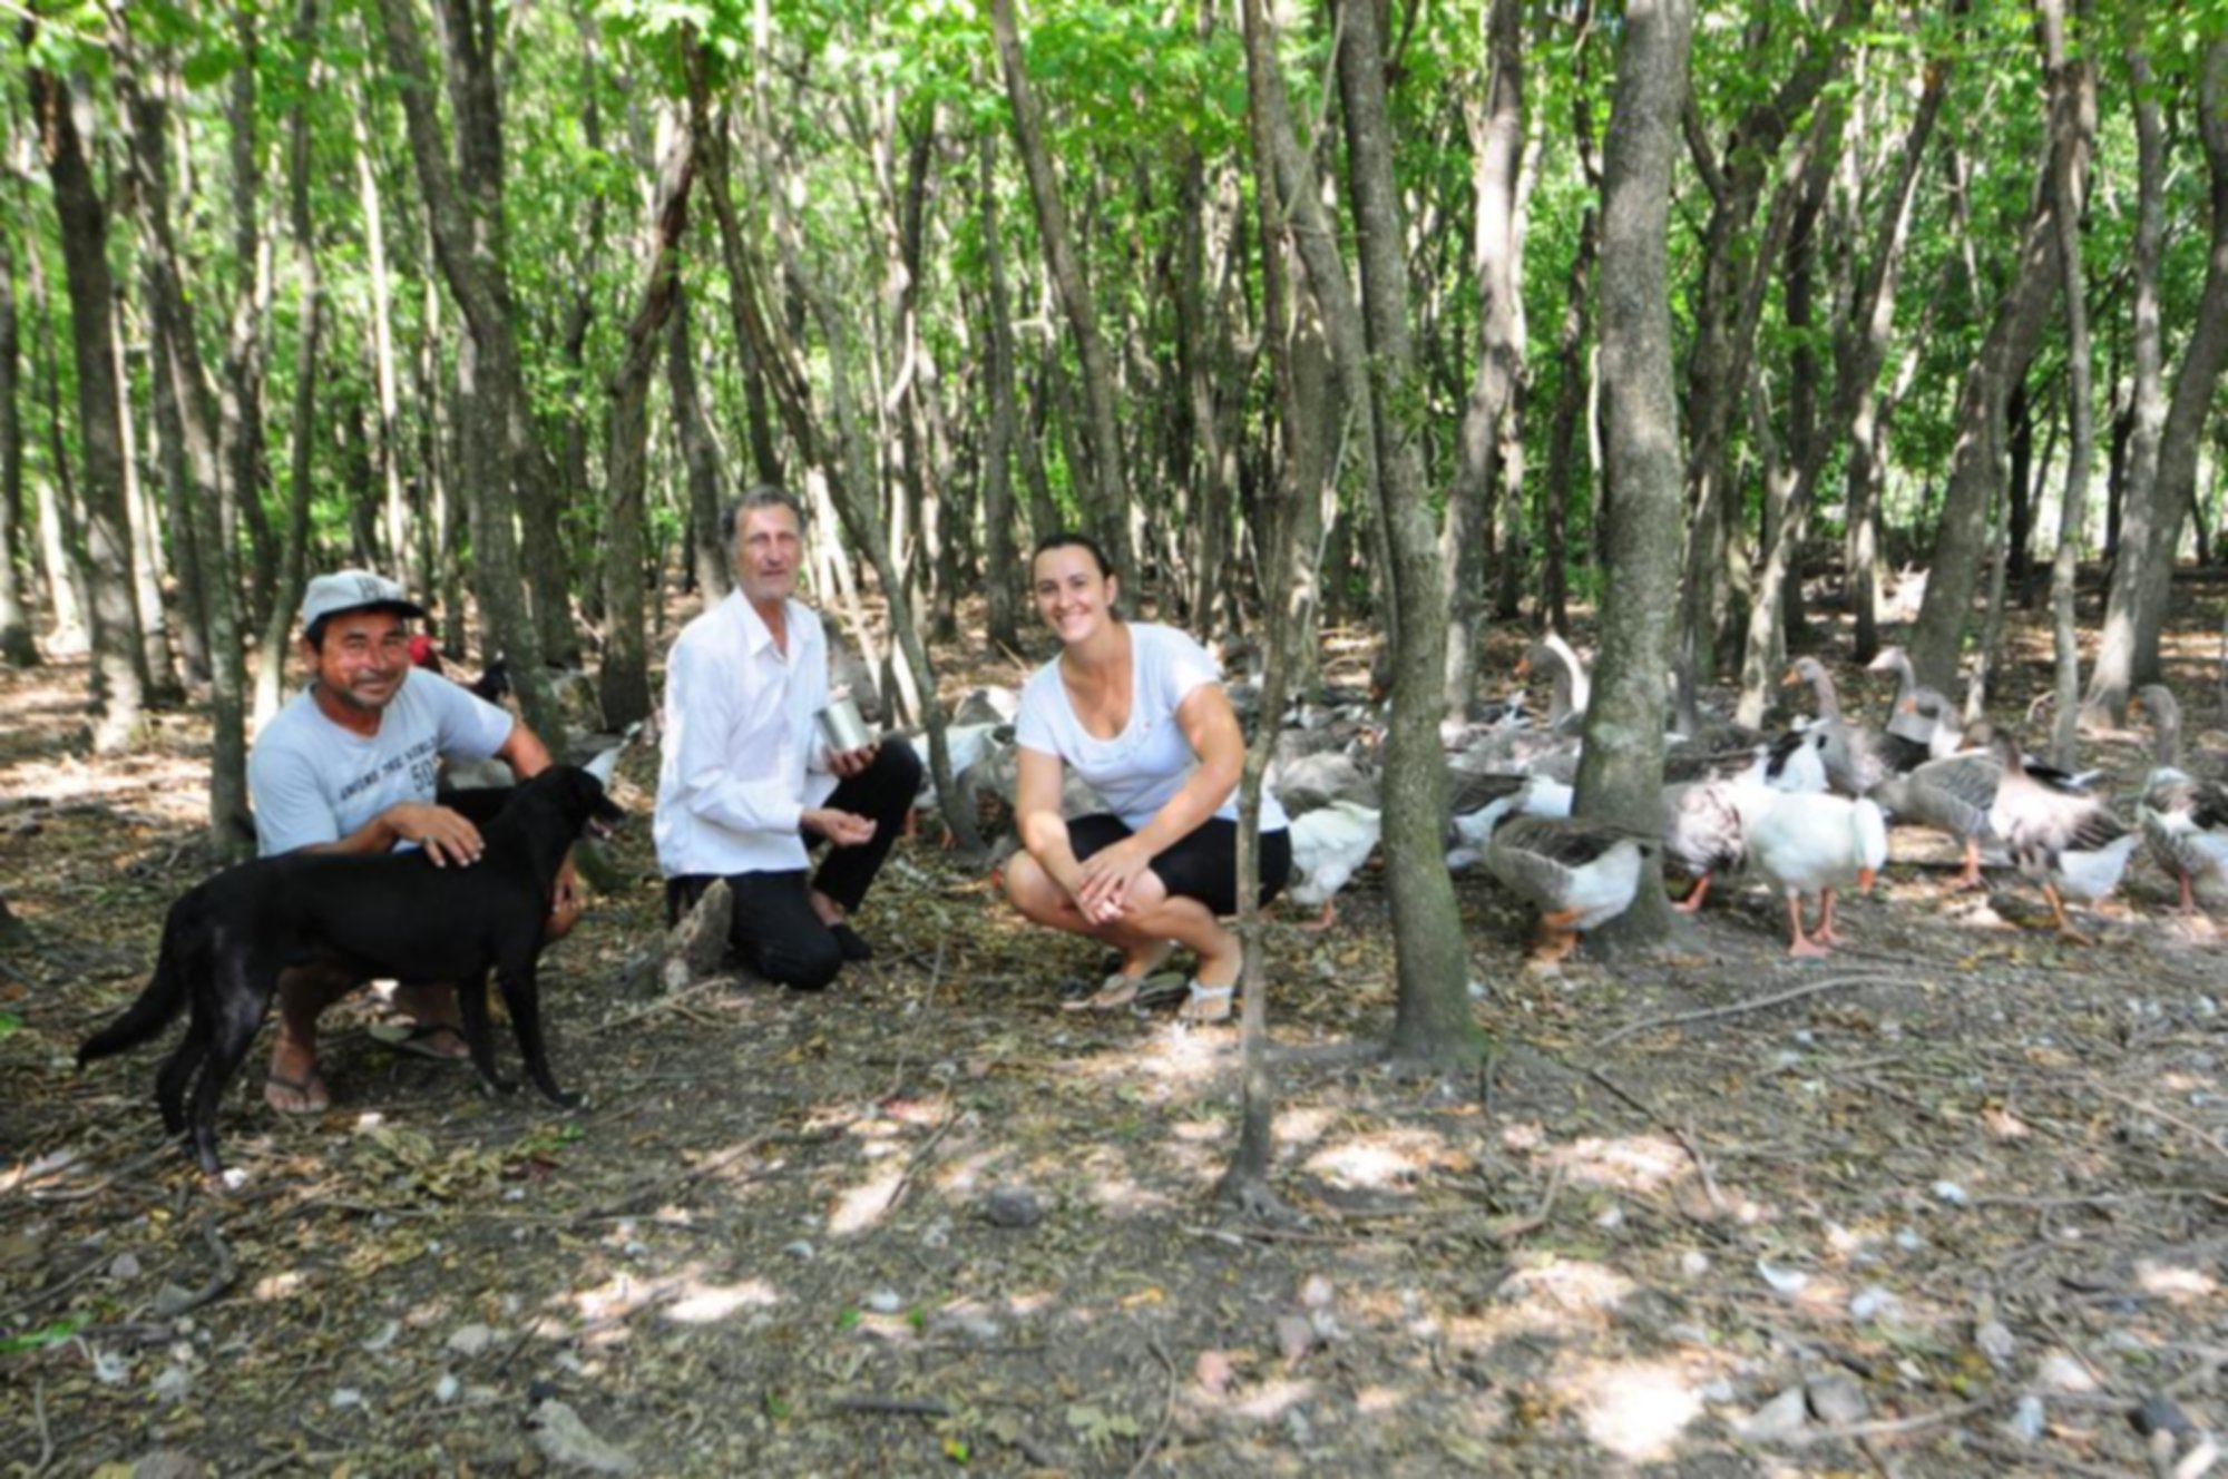
[[[726,938],[735,956],[758,976],[798,991],[820,991],[842,969],[836,936],[813,913],[811,891],[818,889],[842,904],[844,913],[867,900],[867,889],[882,860],[905,831],[905,813],[920,793],[920,757],[905,740],[885,740],[873,764],[838,782],[824,806],[851,811],[873,822],[873,840],[858,846],[836,846],[820,862],[820,873],[807,882],[804,869],[780,873],[731,873],[726,887],[735,893],[735,915]],[[820,846],[820,840],[813,840]],[[711,873],[684,873],[666,880],[666,924],[695,909],[711,887]]]

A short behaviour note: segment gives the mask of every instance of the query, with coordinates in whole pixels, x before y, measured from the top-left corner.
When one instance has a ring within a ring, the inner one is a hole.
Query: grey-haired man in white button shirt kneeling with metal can
[[[766,980],[820,991],[873,951],[849,915],[905,829],[920,757],[905,740],[829,751],[829,644],[795,599],[804,510],[753,488],[720,519],[735,590],[682,628],[666,662],[657,866],[680,918],[715,878],[735,893],[729,940]],[[807,880],[807,853],[829,844]]]

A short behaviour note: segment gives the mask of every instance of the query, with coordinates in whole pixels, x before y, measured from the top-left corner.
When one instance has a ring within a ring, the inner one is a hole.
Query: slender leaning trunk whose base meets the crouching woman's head
[[[1067,207],[1061,203],[1061,183],[1052,174],[1052,156],[1045,149],[1045,129],[1029,89],[1029,74],[1023,65],[1020,33],[1014,27],[1014,0],[991,0],[991,33],[998,38],[998,60],[1005,67],[1005,91],[1014,105],[1014,145],[1029,176],[1029,198],[1036,203],[1036,229],[1045,243],[1045,265],[1061,294],[1067,327],[1076,339],[1076,361],[1083,370],[1083,401],[1087,417],[1083,432],[1089,445],[1089,468],[1076,479],[1076,490],[1089,494],[1089,515],[1105,539],[1107,557],[1114,566],[1139,581],[1143,592],[1143,570],[1132,568],[1130,555],[1130,494],[1123,477],[1121,423],[1114,414],[1114,368],[1107,361],[1105,336],[1098,332],[1098,310],[1092,303],[1089,283],[1083,278],[1083,263],[1067,229]]]

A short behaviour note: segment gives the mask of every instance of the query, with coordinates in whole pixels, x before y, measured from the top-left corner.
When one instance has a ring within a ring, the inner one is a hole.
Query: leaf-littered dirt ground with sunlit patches
[[[1789,962],[1751,884],[1553,973],[1468,873],[1502,1051],[1457,1076],[1372,1051],[1370,869],[1332,931],[1270,927],[1303,1218],[1259,1225],[1212,1198],[1237,1031],[1063,1011],[1094,951],[925,842],[836,989],[631,993],[662,924],[631,753],[626,887],[544,962],[590,1105],[488,1100],[343,1007],[330,1114],[267,1111],[258,1047],[225,1192],[160,1140],[158,1054],[71,1065],[209,866],[194,719],[87,764],[80,686],[0,675],[9,1472],[2126,1475],[2201,1472],[2224,1417],[2221,947],[2148,862],[2076,947],[1898,833],[1834,960]],[[2090,748],[2132,797],[2141,735]]]

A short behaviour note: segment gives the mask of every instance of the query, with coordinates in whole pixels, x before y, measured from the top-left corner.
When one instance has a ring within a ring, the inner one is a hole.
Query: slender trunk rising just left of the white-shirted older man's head
[[[648,615],[642,601],[644,515],[648,479],[651,374],[657,339],[680,294],[680,249],[695,183],[695,129],[686,116],[664,120],[668,140],[657,160],[657,203],[648,241],[642,303],[626,325],[626,354],[610,381],[610,499],[604,521],[604,724],[624,728],[651,713]]]

